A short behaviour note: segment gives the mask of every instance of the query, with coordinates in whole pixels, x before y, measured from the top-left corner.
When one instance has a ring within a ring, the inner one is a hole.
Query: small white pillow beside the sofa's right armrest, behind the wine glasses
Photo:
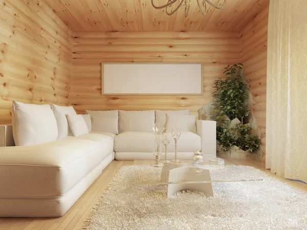
[[[170,132],[173,128],[179,128],[181,132],[196,133],[195,115],[178,115],[166,113],[166,132]]]

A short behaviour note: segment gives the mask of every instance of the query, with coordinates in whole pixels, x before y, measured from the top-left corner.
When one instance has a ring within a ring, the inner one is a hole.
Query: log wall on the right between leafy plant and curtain
[[[267,41],[269,7],[260,12],[241,32],[241,59],[245,78],[255,104],[252,114],[261,130],[262,160],[266,151],[266,100],[267,100]]]

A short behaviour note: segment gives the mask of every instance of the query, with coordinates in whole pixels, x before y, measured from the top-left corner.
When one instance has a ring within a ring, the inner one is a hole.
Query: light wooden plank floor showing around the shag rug
[[[246,165],[258,168],[276,177],[266,170],[263,163],[253,160],[227,159],[234,165]],[[117,170],[125,165],[133,165],[133,161],[114,160],[103,170],[101,176],[80,197],[72,208],[62,217],[56,218],[0,218],[0,229],[81,229],[83,222],[90,215],[93,206],[106,189],[108,182],[116,174]],[[277,177],[278,178],[278,177]],[[297,181],[278,178],[289,185],[307,193],[307,185]]]

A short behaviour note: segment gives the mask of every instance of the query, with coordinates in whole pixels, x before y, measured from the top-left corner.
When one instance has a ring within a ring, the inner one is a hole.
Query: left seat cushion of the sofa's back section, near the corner
[[[119,152],[152,152],[155,136],[150,132],[122,132],[114,138],[114,150]]]

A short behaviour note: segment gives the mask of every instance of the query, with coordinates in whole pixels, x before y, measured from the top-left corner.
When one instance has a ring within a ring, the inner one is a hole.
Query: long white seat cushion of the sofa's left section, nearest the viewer
[[[113,146],[113,140],[103,135],[100,142],[70,137],[34,146],[2,148],[0,197],[63,195],[112,154],[113,149],[106,150],[110,149],[106,146]]]

